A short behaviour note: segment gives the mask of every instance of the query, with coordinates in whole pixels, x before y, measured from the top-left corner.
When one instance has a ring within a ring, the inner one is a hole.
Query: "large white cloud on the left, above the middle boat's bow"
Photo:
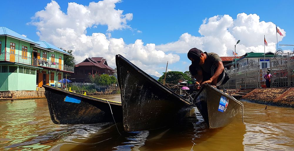
[[[158,64],[167,60],[170,63],[179,61],[178,55],[155,49],[155,44],[143,45],[140,39],[134,44],[126,44],[123,38],[111,38],[109,32],[86,35],[87,28],[95,28],[97,25],[107,25],[107,31],[131,29],[127,21],[133,19],[133,14],[123,14],[122,10],[116,10],[115,4],[118,2],[121,1],[104,0],[91,2],[89,6],[69,3],[65,13],[56,1],[51,1],[45,10],[36,12],[30,24],[37,27],[37,35],[41,40],[74,50],[78,62],[87,57],[104,57],[108,60],[108,65],[114,68],[115,55],[122,54],[147,73],[159,76],[156,71]]]

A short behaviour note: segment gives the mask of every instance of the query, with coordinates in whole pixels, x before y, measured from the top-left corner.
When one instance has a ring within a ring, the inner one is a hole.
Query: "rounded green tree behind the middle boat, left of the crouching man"
[[[165,72],[163,75],[158,79],[159,82],[163,83],[164,81]],[[166,73],[166,83],[177,83],[179,79],[191,80],[186,74],[180,71],[169,71]]]

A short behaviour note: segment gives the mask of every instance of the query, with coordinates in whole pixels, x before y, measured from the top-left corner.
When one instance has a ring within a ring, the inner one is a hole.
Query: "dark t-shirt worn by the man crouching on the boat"
[[[222,61],[220,59],[220,57],[218,56],[218,54],[214,53],[214,52],[204,52],[206,54],[206,60],[204,62],[204,64],[199,64],[198,66],[196,66],[196,70],[203,70],[206,73],[211,73],[211,67],[213,64],[216,64],[220,61]]]

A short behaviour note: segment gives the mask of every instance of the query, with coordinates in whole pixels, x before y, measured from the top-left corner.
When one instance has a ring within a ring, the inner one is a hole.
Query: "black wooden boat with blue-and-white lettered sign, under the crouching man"
[[[193,99],[209,128],[229,124],[240,112],[243,104],[211,85],[204,84]]]

